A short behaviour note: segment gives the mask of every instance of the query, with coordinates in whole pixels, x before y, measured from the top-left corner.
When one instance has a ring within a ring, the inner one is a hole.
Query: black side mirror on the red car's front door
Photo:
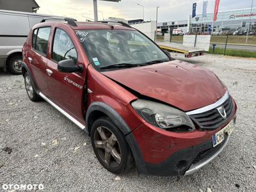
[[[62,60],[58,63],[58,71],[66,73],[82,72],[83,65],[76,65],[72,59]]]

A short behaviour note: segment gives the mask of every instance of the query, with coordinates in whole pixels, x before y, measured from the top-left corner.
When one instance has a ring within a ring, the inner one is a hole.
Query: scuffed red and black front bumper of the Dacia
[[[235,118],[235,114],[232,118]],[[228,122],[227,122],[228,124]],[[225,125],[227,125],[225,124]],[[229,136],[212,147],[214,131],[168,132],[150,124],[143,124],[132,132],[150,175],[190,175],[208,164],[225,148]],[[136,157],[134,157],[136,158]]]

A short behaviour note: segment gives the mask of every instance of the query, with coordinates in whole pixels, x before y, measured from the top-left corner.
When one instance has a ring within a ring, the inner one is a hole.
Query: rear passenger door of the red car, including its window
[[[31,73],[33,74],[36,85],[40,92],[47,95],[47,79],[46,79],[46,64],[47,64],[47,46],[49,42],[49,36],[51,33],[51,27],[44,27],[34,29],[32,37],[31,51],[28,52],[28,60],[31,67]]]

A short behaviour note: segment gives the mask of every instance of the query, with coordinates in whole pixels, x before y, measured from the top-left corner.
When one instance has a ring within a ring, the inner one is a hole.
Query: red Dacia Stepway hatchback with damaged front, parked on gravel
[[[189,175],[223,150],[236,102],[214,73],[173,60],[123,22],[44,19],[22,49],[28,97],[88,133],[100,163]]]

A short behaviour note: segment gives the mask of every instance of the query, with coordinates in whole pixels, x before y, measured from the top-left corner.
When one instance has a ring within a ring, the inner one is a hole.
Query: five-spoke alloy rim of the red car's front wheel
[[[94,132],[94,143],[100,159],[105,164],[112,168],[120,165],[122,153],[118,140],[113,132],[104,126],[97,127]]]

